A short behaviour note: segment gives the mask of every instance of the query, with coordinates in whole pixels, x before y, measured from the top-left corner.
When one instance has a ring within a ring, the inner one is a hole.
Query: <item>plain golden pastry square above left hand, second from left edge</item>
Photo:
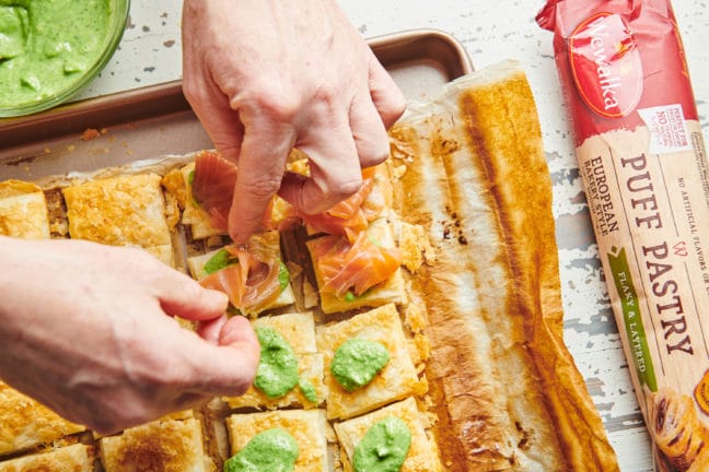
[[[161,180],[156,174],[121,175],[65,188],[69,234],[74,239],[142,247],[172,266]]]

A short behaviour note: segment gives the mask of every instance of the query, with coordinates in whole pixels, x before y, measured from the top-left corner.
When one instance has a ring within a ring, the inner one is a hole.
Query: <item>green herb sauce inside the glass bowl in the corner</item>
[[[0,0],[0,106],[79,81],[101,57],[109,19],[108,0]]]

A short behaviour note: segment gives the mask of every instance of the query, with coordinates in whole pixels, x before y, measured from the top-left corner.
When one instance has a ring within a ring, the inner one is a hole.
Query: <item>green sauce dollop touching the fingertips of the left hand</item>
[[[298,385],[298,358],[286,339],[272,328],[256,328],[261,347],[254,387],[268,398],[279,398]]]

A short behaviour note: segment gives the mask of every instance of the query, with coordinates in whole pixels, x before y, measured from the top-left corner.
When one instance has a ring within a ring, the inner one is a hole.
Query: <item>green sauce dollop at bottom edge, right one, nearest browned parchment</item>
[[[398,472],[411,447],[411,432],[404,420],[387,416],[374,423],[354,446],[354,472]]]

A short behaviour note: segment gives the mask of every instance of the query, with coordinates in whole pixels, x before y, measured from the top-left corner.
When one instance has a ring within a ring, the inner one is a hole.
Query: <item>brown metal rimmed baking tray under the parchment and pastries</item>
[[[409,99],[426,99],[473,70],[463,46],[440,31],[402,32],[369,44]],[[88,129],[98,133],[88,139]],[[211,146],[174,81],[0,119],[0,180],[36,180]]]

